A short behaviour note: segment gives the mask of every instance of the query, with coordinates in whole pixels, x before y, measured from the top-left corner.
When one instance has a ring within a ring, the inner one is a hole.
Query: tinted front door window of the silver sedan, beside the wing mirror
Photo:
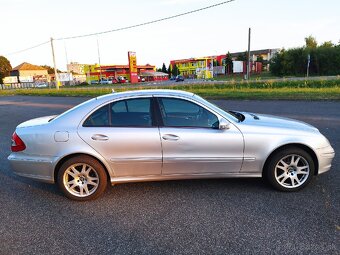
[[[164,126],[218,128],[219,121],[215,114],[192,102],[161,98],[160,110]]]

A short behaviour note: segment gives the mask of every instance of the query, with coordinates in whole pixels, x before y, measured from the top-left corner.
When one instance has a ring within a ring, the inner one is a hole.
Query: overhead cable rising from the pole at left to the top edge
[[[228,1],[221,2],[221,3],[209,5],[209,6],[206,6],[206,7],[202,7],[202,8],[196,9],[196,10],[192,10],[192,11],[176,14],[176,15],[173,15],[173,16],[168,16],[168,17],[161,18],[161,19],[147,21],[147,22],[144,22],[144,23],[139,23],[139,24],[135,24],[135,25],[131,25],[131,26],[115,28],[115,29],[111,29],[111,30],[107,30],[107,31],[91,33],[91,34],[85,34],[85,35],[76,35],[76,36],[69,36],[69,37],[61,37],[61,38],[56,38],[55,40],[76,39],[76,38],[82,38],[82,37],[89,37],[89,36],[94,36],[94,35],[107,34],[107,33],[112,33],[112,32],[117,32],[117,31],[131,29],[131,28],[146,26],[146,25],[150,25],[150,24],[153,24],[153,23],[158,23],[158,22],[161,22],[161,21],[164,21],[164,20],[174,19],[174,18],[178,18],[178,17],[185,16],[185,15],[188,15],[188,14],[192,14],[192,13],[195,13],[195,12],[200,12],[200,11],[203,11],[203,10],[214,8],[216,6],[220,6],[220,5],[227,4],[227,3],[230,3],[230,2],[234,2],[234,1],[236,1],[236,0],[228,0]]]

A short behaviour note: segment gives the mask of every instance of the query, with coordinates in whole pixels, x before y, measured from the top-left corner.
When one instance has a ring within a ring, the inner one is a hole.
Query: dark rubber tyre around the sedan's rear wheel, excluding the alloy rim
[[[95,169],[95,171],[98,174],[98,178],[99,178],[99,184],[98,184],[96,191],[94,193],[92,193],[91,195],[86,196],[86,197],[78,197],[78,196],[71,194],[66,189],[66,187],[64,186],[64,182],[63,182],[63,176],[64,176],[65,171],[71,165],[81,164],[81,163],[85,163],[85,164],[91,166],[93,169]],[[93,199],[98,198],[105,191],[106,186],[107,186],[107,175],[106,175],[104,167],[96,159],[89,157],[89,156],[76,156],[76,157],[73,157],[73,158],[66,160],[61,165],[61,167],[58,171],[57,183],[58,183],[60,190],[64,193],[64,195],[67,198],[72,199],[72,200],[76,200],[76,201],[88,201],[88,200],[93,200]]]

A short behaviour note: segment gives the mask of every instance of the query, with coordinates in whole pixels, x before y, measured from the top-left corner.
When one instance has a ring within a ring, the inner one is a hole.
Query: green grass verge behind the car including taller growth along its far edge
[[[271,81],[257,83],[234,81],[229,83],[183,84],[179,86],[139,87],[116,85],[102,87],[61,87],[56,89],[17,89],[0,90],[0,96],[35,95],[35,96],[88,96],[95,97],[115,91],[136,89],[179,89],[196,93],[210,99],[267,99],[267,100],[340,100],[340,79],[319,81]]]

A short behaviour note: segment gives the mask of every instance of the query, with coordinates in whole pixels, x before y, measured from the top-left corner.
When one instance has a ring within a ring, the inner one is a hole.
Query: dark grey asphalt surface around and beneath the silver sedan
[[[84,98],[0,97],[0,254],[339,254],[340,102],[214,101],[315,125],[337,152],[332,170],[283,193],[261,179],[121,184],[74,202],[9,169],[16,125]]]

